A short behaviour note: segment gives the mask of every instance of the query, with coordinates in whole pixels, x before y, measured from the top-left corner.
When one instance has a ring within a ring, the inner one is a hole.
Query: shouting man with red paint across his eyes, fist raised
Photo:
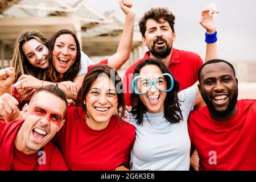
[[[49,142],[65,122],[67,100],[55,85],[36,90],[19,114],[18,101],[10,94],[0,97],[0,115],[23,119],[0,121],[0,170],[68,170],[57,147]]]

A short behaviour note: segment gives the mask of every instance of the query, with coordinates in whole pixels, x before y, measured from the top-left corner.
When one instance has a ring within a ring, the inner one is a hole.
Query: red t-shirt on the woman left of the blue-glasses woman
[[[81,113],[85,118],[85,113]],[[68,107],[63,128],[54,138],[71,170],[115,170],[129,166],[130,151],[135,140],[135,127],[117,117],[102,130],[93,130],[78,117],[75,107]]]

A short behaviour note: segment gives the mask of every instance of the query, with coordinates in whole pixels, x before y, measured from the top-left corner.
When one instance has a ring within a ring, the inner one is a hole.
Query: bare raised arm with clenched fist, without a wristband
[[[119,69],[129,59],[131,46],[133,43],[133,29],[135,20],[135,10],[130,0],[120,0],[119,5],[125,13],[125,26],[117,48],[117,52],[110,56],[108,65],[114,69]]]

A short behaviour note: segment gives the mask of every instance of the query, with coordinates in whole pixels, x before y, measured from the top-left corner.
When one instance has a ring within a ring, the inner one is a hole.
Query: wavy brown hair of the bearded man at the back
[[[163,8],[163,7],[151,8],[149,11],[147,11],[144,14],[141,20],[139,20],[139,30],[141,31],[141,34],[143,37],[145,37],[146,22],[148,19],[154,19],[158,23],[168,22],[170,24],[172,32],[174,32],[175,16],[167,8]]]

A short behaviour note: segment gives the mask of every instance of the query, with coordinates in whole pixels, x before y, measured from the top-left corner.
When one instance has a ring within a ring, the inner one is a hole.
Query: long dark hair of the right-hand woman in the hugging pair
[[[48,81],[57,82],[57,79],[59,78],[59,75],[60,75],[60,73],[57,72],[56,68],[52,63],[52,53],[53,53],[56,39],[63,34],[72,35],[73,38],[75,39],[76,47],[77,47],[76,60],[72,64],[71,68],[69,68],[68,71],[64,73],[63,81],[67,81],[67,80],[73,81],[73,79],[77,76],[77,73],[79,72],[79,69],[80,69],[81,52],[80,52],[80,44],[79,44],[79,41],[77,40],[76,35],[69,30],[60,30],[55,35],[53,35],[53,37],[49,40],[49,56],[48,56],[49,67],[48,67],[48,73],[46,75],[47,77],[46,80]]]

